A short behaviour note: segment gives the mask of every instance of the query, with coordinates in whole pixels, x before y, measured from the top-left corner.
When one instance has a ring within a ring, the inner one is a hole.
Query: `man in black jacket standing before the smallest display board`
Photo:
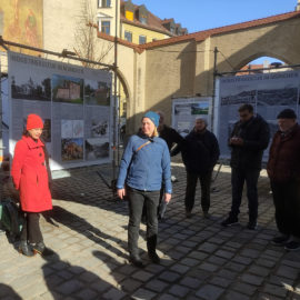
[[[198,118],[196,120],[193,130],[184,139],[181,152],[187,169],[186,216],[187,218],[191,217],[196,186],[199,179],[203,216],[209,218],[211,174],[219,159],[220,150],[217,138],[207,130],[204,119]]]

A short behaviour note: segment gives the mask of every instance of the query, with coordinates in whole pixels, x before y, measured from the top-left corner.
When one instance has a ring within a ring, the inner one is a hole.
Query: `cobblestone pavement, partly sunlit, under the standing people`
[[[240,226],[222,228],[230,207],[230,169],[222,167],[213,187],[213,218],[202,218],[200,191],[186,219],[186,171],[178,178],[166,220],[159,224],[161,264],[150,263],[144,230],[139,240],[144,269],[128,262],[128,204],[112,198],[97,170],[70,171],[53,182],[53,212],[41,219],[44,241],[56,254],[48,260],[18,253],[18,243],[0,234],[0,299],[300,299],[300,252],[273,247],[277,234],[266,176],[259,181],[259,228],[247,230],[243,199]]]

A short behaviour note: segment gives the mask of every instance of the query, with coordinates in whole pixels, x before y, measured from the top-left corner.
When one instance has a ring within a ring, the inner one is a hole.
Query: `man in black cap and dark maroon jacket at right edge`
[[[272,140],[267,171],[281,234],[272,243],[296,251],[300,249],[300,126],[291,109],[282,110],[277,119],[279,130]]]

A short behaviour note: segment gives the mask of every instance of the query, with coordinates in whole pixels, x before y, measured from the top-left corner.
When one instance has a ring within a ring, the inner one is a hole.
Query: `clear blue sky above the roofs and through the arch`
[[[132,3],[144,4],[160,19],[173,18],[191,33],[294,11],[297,0],[132,0]],[[264,59],[251,63],[262,63]]]

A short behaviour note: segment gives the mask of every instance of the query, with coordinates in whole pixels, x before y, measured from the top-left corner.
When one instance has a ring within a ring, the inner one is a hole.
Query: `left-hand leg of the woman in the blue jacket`
[[[139,230],[144,202],[143,194],[134,189],[127,188],[129,200],[129,223],[128,223],[128,250],[130,257],[139,259]]]

